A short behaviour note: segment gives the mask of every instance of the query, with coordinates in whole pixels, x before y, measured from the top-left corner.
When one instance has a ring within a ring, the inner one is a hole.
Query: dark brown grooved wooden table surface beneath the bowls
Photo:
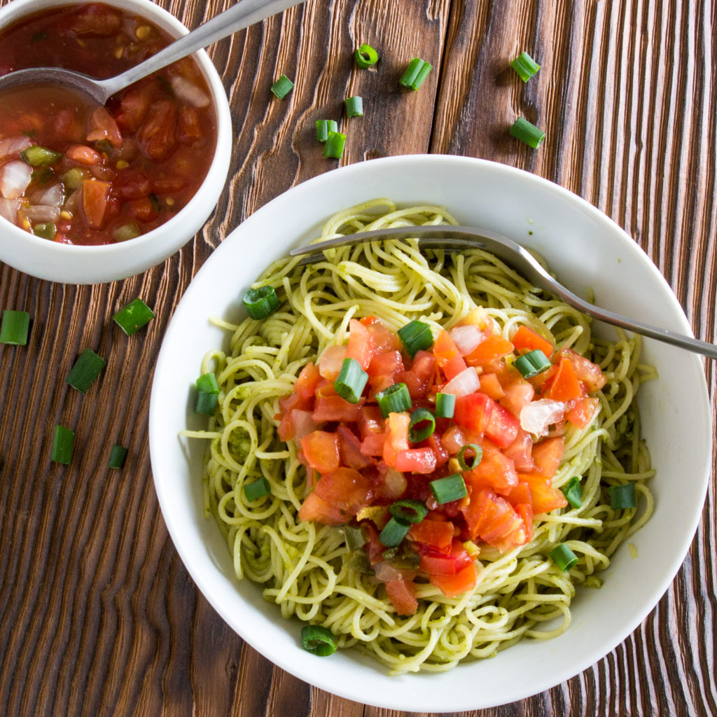
[[[231,3],[160,4],[196,27]],[[381,52],[377,72],[354,67],[361,42]],[[506,70],[523,49],[542,65],[525,85]],[[32,315],[27,347],[0,346],[3,717],[405,714],[310,688],[242,643],[176,554],[148,452],[153,366],[176,304],[239,222],[337,166],[321,156],[313,125],[341,117],[346,96],[363,95],[366,116],[351,122],[342,165],[461,154],[556,181],[634,237],[695,335],[715,338],[714,2],[309,0],[210,55],[236,140],[226,189],[196,239],[105,285],[53,284],[0,265],[0,308]],[[434,70],[407,98],[397,79],[413,56]],[[272,101],[282,73],[295,90]],[[508,136],[516,115],[546,130],[538,151]],[[136,296],[157,317],[130,341],[111,315]],[[85,346],[109,361],[83,398],[65,376]],[[714,362],[706,375],[714,407]],[[49,460],[57,423],[77,430],[67,467]],[[115,442],[129,448],[121,471],[107,467]],[[568,682],[480,715],[717,714],[716,527],[711,488],[677,579],[632,636]]]

